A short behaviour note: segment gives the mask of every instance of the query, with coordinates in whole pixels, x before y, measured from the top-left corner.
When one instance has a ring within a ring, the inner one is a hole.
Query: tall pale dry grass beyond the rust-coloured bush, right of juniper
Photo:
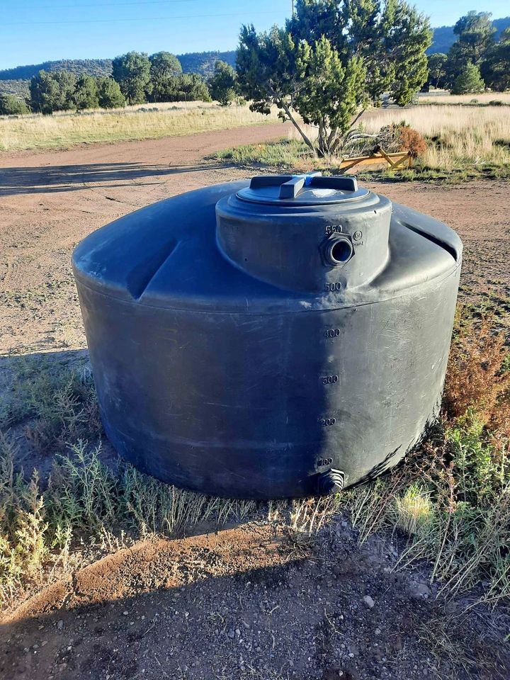
[[[363,120],[363,119],[362,119]],[[421,161],[433,169],[510,163],[510,109],[506,106],[417,106],[388,109],[365,120],[367,132],[406,123],[429,139]]]

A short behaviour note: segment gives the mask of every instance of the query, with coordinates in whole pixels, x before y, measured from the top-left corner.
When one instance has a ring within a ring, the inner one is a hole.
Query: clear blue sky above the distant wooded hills
[[[412,0],[411,0],[412,1]],[[510,13],[509,0],[415,0],[432,26],[470,9]],[[115,57],[128,50],[232,50],[239,26],[282,24],[291,0],[0,0],[0,69],[47,60]]]

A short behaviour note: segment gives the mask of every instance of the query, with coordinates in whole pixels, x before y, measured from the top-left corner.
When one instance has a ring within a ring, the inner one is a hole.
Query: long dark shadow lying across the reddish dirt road
[[[0,168],[0,196],[74,191],[84,188],[88,184],[100,184],[103,188],[113,188],[149,177],[164,178],[174,174],[215,170],[222,167],[224,166],[218,164],[165,166],[138,163],[96,163],[91,165]],[[137,183],[140,184],[140,182]]]

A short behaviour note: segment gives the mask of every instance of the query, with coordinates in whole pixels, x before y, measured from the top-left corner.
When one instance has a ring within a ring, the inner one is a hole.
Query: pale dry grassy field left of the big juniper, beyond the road
[[[91,142],[147,140],[274,123],[276,116],[252,113],[248,106],[178,102],[145,104],[116,111],[0,118],[0,152],[67,149]]]

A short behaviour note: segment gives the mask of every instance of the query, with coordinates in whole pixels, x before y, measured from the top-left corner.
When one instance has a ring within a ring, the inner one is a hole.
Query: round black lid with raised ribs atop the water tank
[[[309,175],[262,175],[253,177],[249,186],[236,196],[253,203],[280,205],[324,205],[359,200],[368,189],[358,188],[356,177]]]

